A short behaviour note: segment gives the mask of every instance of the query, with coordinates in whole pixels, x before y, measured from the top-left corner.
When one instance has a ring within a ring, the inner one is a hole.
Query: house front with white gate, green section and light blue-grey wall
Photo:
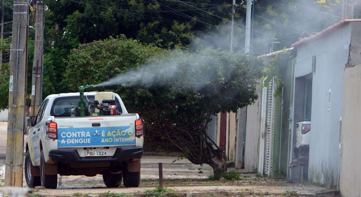
[[[361,64],[360,32],[360,19],[344,20],[292,44],[282,94],[270,97],[271,83],[262,90],[260,174],[299,181],[304,171],[311,183],[339,188],[340,163],[349,164],[341,157],[344,71]],[[274,56],[265,55],[266,64]],[[302,169],[292,164],[300,120],[311,121],[308,166]]]

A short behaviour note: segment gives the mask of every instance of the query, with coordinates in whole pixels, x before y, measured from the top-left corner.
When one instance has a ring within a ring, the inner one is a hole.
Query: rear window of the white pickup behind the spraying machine
[[[89,100],[94,100],[94,95],[87,96]],[[115,98],[118,111],[122,113],[122,107],[118,98]],[[80,96],[71,96],[71,97],[58,97],[54,99],[54,102],[51,106],[50,115],[54,117],[71,117],[70,110],[71,108],[77,107],[78,102],[80,101]],[[84,96],[84,101],[88,105],[88,100]],[[101,101],[99,101],[101,102]]]

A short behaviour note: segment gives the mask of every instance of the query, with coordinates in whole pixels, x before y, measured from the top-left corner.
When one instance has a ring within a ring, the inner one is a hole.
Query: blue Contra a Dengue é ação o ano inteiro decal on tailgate
[[[134,126],[58,128],[58,147],[135,145]]]

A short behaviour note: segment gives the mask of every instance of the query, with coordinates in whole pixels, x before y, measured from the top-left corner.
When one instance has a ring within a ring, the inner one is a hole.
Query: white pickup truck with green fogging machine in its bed
[[[55,189],[58,174],[101,174],[106,187],[116,187],[122,179],[125,187],[139,186],[143,119],[129,114],[116,93],[84,95],[85,116],[76,112],[79,93],[65,93],[45,98],[34,120],[25,117],[25,179],[30,188]]]

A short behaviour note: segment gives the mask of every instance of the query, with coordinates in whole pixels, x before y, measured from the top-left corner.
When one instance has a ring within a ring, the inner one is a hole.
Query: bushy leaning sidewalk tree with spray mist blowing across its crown
[[[73,90],[115,77],[110,85],[129,112],[146,120],[145,143],[174,146],[215,174],[227,168],[222,150],[206,134],[210,117],[253,103],[262,68],[261,59],[241,52],[167,52],[124,36],[81,45],[67,64]]]

